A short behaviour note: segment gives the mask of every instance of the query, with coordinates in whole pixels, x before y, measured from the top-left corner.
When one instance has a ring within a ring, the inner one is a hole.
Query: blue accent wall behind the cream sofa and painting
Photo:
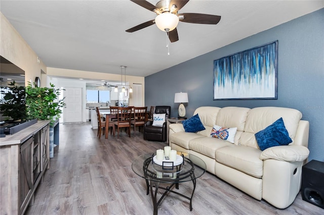
[[[310,124],[309,160],[324,162],[323,23],[324,9],[321,9],[147,76],[145,105],[170,105],[171,117],[177,117],[179,103],[174,103],[174,94],[187,92],[188,118],[199,106],[297,109]],[[213,100],[214,60],[275,40],[278,40],[278,99]]]

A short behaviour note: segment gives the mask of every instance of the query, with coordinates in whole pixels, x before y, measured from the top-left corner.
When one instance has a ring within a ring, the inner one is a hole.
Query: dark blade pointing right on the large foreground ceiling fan
[[[183,13],[178,14],[179,21],[197,24],[212,24],[216,25],[220,20],[220,16],[209,14],[195,14],[195,13]]]

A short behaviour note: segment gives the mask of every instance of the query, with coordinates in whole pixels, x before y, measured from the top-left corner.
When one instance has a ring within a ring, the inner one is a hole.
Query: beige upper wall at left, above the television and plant
[[[41,77],[41,70],[47,71],[46,65],[40,61],[37,63],[37,55],[20,36],[7,18],[0,13],[0,55],[25,71],[25,84],[27,81],[35,81],[35,77]],[[41,83],[46,83],[42,80]]]

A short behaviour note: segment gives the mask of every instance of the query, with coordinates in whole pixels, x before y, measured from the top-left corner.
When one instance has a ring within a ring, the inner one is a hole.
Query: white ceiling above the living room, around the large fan
[[[155,5],[158,1],[149,0]],[[179,13],[221,16],[217,25],[179,22],[170,44],[155,18],[131,1],[3,1],[0,10],[47,67],[148,76],[324,7],[324,1],[189,1]]]

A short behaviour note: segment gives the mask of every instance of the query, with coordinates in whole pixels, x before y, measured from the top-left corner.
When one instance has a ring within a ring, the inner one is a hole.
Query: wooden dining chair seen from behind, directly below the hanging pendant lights
[[[119,128],[127,128],[129,137],[131,137],[131,116],[132,107],[118,107],[117,121],[114,122],[117,127],[117,138],[119,139]]]

